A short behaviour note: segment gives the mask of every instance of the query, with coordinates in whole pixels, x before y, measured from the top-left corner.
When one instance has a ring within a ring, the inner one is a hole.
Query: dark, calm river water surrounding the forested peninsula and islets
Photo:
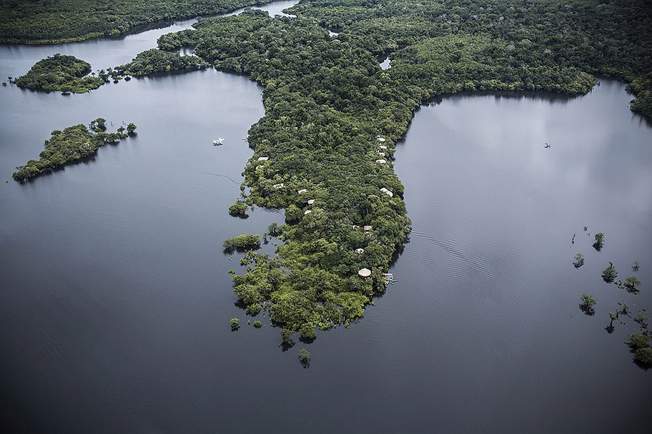
[[[189,23],[1,46],[0,76],[56,52],[119,65]],[[393,268],[398,282],[349,330],[285,352],[265,318],[259,330],[230,331],[231,317],[245,318],[227,273],[239,255],[221,248],[283,220],[275,210],[247,220],[227,212],[260,94],[215,70],[72,96],[0,88],[0,405],[10,431],[649,424],[652,371],[623,344],[635,324],[604,330],[620,300],[652,309],[652,128],[630,113],[623,83],[602,80],[580,98],[462,94],[419,109],[396,152],[414,228]],[[98,116],[138,124],[138,137],[33,182],[11,180],[50,131]],[[218,136],[225,144],[213,147]],[[591,248],[597,231],[602,252]],[[600,279],[608,261],[625,278],[635,260],[640,295]],[[595,316],[578,309],[582,293],[598,299]],[[297,360],[304,346],[309,369]]]

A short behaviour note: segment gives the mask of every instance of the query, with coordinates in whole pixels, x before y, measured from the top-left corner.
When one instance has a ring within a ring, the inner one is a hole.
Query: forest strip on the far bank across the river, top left
[[[0,0],[0,43],[56,44],[269,0]]]

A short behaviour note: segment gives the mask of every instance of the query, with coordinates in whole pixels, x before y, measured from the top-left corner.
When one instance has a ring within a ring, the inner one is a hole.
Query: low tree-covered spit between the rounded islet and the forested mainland
[[[116,66],[115,70],[120,75],[145,76],[156,72],[203,69],[207,66],[209,66],[208,63],[200,57],[182,56],[176,52],[170,53],[153,48],[152,50],[138,53],[130,63]]]

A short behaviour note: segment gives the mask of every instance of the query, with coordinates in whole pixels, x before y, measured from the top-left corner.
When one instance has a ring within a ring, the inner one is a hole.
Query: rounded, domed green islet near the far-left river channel
[[[35,63],[27,74],[16,78],[14,83],[40,91],[85,93],[104,84],[101,78],[87,77],[90,72],[89,63],[57,53]]]

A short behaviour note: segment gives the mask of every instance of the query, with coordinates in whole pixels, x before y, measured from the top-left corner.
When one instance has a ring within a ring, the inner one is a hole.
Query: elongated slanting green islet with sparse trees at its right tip
[[[120,126],[116,132],[106,132],[106,119],[98,117],[89,126],[78,124],[68,126],[63,131],[54,130],[49,140],[45,141],[45,150],[38,160],[29,160],[25,166],[16,167],[12,175],[16,181],[24,181],[47,173],[68,162],[92,156],[99,147],[106,143],[115,143],[120,139],[133,136],[136,124]]]

